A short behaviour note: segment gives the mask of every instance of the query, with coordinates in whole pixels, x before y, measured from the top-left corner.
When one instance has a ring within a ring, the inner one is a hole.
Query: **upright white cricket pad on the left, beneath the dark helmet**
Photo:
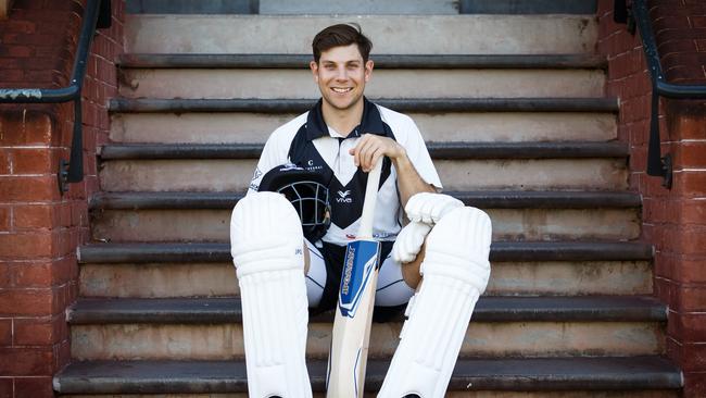
[[[312,397],[303,242],[299,215],[279,194],[251,192],[232,211],[230,252],[240,284],[250,397]]]

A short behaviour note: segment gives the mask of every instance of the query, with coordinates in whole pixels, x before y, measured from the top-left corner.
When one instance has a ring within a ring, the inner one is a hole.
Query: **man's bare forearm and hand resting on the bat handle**
[[[389,137],[364,134],[350,153],[354,157],[355,165],[363,169],[364,172],[369,172],[382,156],[390,158],[398,172],[398,189],[403,208],[415,194],[437,191],[433,185],[428,184],[419,176],[404,147]]]

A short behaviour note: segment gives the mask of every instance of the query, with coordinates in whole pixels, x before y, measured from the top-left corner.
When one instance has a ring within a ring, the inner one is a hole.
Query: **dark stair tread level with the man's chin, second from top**
[[[403,98],[371,99],[398,112],[617,112],[616,98]],[[131,99],[112,98],[110,112],[303,113],[313,99]]]

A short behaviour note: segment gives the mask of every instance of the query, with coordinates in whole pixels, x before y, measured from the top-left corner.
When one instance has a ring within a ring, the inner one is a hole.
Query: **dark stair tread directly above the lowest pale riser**
[[[216,324],[240,323],[241,316],[238,298],[84,298],[70,310],[68,322],[72,325]],[[667,308],[652,296],[481,297],[472,319],[475,322],[665,322]],[[333,314],[327,312],[315,320],[332,322]]]

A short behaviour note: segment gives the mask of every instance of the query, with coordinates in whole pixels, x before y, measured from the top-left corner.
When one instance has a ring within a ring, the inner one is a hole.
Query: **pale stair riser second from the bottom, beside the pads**
[[[486,296],[648,295],[652,266],[643,261],[495,262]],[[83,297],[238,296],[230,263],[83,264]]]

